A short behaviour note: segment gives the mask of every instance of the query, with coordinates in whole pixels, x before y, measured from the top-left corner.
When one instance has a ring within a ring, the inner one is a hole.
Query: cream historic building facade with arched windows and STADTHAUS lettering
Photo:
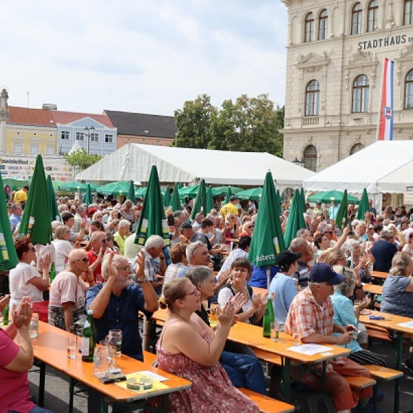
[[[320,171],[376,140],[383,59],[394,139],[413,138],[413,0],[281,0],[288,9],[284,158]]]

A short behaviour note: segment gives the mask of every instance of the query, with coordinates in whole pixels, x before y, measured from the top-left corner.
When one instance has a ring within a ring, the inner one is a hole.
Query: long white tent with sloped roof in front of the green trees
[[[210,151],[129,143],[76,176],[77,180],[146,182],[152,165],[162,183],[262,185],[268,170],[277,187],[302,187],[313,172],[269,153]]]

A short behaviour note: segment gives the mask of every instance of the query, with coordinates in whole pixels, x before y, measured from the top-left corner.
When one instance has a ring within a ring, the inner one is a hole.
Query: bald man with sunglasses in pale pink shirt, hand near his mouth
[[[86,291],[96,283],[83,248],[71,251],[68,261],[65,270],[56,275],[50,286],[49,324],[71,331],[74,323],[86,314]]]

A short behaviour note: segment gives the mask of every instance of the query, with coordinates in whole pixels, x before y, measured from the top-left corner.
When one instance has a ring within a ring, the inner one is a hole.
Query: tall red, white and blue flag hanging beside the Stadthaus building
[[[381,84],[381,103],[377,127],[377,140],[393,140],[393,96],[394,61],[385,58],[383,83]]]

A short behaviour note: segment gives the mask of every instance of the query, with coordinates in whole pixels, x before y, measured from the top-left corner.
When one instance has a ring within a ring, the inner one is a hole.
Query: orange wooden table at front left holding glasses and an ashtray
[[[152,372],[169,379],[168,381],[162,382],[167,385],[168,388],[137,394],[131,390],[121,388],[116,384],[100,383],[100,381],[94,377],[93,363],[86,363],[82,361],[80,353],[77,354],[76,359],[67,358],[67,337],[69,335],[69,332],[39,321],[39,337],[33,339],[32,343],[34,348],[34,357],[41,361],[39,381],[40,406],[43,406],[44,403],[46,364],[67,374],[67,376],[71,378],[70,407],[73,407],[74,381],[77,380],[85,383],[90,388],[94,388],[94,390],[97,390],[106,396],[102,398],[103,405],[100,406],[100,412],[107,412],[108,399],[109,401],[127,403],[131,401],[143,401],[144,399],[151,399],[159,395],[165,396],[164,405],[160,408],[160,411],[167,412],[169,393],[191,388],[190,381],[181,379],[173,374],[154,368],[150,364],[142,363],[125,355],[122,355],[122,357],[116,359],[116,367],[120,368],[123,373],[130,374],[142,370],[151,370]],[[78,337],[78,348],[81,348],[81,337]]]

